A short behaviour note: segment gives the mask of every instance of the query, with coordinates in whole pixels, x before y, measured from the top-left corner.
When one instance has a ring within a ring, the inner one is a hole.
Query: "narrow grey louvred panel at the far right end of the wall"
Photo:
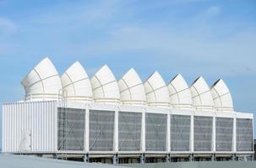
[[[237,151],[253,150],[253,119],[237,118]]]

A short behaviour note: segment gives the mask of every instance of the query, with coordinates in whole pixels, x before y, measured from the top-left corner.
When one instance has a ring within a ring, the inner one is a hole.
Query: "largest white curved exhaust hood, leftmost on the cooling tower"
[[[25,87],[25,101],[56,100],[60,97],[62,83],[57,70],[48,58],[41,60],[21,81]]]

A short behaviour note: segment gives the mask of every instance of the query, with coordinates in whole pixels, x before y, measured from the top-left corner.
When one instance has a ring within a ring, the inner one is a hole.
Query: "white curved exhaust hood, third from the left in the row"
[[[120,102],[117,81],[108,66],[103,66],[90,80],[95,102]]]

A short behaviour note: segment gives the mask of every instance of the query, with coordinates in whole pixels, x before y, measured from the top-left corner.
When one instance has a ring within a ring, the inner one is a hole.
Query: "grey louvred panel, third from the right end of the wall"
[[[211,151],[212,117],[193,117],[194,151]]]

